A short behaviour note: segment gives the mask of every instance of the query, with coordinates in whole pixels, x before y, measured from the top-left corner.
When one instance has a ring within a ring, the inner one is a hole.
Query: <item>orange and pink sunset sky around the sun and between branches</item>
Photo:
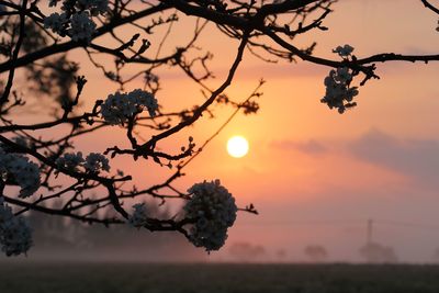
[[[316,41],[315,55],[333,59],[337,56],[331,49],[344,44],[353,46],[359,57],[437,52],[437,16],[420,1],[341,0],[334,10],[324,22],[329,31],[301,37],[297,44]],[[184,40],[191,24],[183,20],[170,42]],[[153,50],[157,42],[149,41]],[[210,26],[200,45],[215,56],[216,78],[210,81],[215,87],[227,72],[237,43]],[[86,108],[111,93],[112,86],[80,52],[70,56],[83,60],[81,70],[91,81],[83,92]],[[303,61],[267,64],[246,53],[226,93],[245,100],[263,78],[260,112],[234,119],[177,184],[184,190],[219,179],[240,206],[254,203],[260,212],[239,213],[227,245],[210,256],[212,261],[228,260],[229,246],[243,241],[264,246],[271,260],[284,250],[283,260],[304,261],[305,246],[323,245],[329,260],[359,261],[369,218],[374,221],[373,240],[393,247],[401,261],[431,261],[439,248],[439,64],[379,64],[381,79],[361,87],[358,106],[342,115],[319,102],[329,70]],[[203,101],[199,88],[183,76],[168,69],[160,74],[164,90],[157,99],[165,108]],[[219,106],[215,120],[203,117],[160,147],[177,149],[188,136],[201,145],[232,111]],[[227,155],[226,142],[233,135],[249,140],[246,157]],[[78,147],[102,151],[119,139],[123,134],[115,129],[111,137],[97,134],[78,142]],[[138,185],[169,174],[149,162],[120,164],[130,166]]]

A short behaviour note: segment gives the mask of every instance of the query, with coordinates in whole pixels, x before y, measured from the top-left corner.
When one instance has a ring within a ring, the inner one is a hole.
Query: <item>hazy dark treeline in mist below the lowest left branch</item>
[[[114,212],[106,211],[106,216]],[[166,209],[148,202],[148,214],[168,218]],[[130,225],[105,227],[31,212],[29,221],[38,244],[33,258],[67,260],[203,261],[205,253],[194,250],[179,235],[138,233]]]

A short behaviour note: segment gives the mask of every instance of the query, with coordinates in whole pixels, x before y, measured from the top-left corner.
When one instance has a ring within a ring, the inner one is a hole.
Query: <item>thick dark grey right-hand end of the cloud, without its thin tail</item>
[[[399,139],[373,128],[347,145],[356,158],[439,187],[439,142]]]

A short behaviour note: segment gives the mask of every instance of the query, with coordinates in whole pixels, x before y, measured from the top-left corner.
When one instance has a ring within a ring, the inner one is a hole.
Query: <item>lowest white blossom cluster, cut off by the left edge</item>
[[[8,257],[25,253],[32,247],[32,229],[27,221],[14,216],[0,196],[0,246]]]

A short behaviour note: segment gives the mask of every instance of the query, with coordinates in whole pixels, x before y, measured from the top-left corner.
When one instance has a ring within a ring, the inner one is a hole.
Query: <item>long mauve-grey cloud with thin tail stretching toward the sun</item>
[[[330,144],[330,145],[329,145]],[[274,140],[270,147],[309,156],[335,155],[391,170],[413,180],[417,188],[439,188],[439,140],[398,138],[371,128],[356,139]]]

